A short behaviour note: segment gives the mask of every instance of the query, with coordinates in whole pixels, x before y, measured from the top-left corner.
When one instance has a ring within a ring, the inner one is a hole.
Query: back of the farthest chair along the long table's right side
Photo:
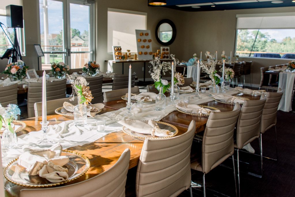
[[[264,133],[276,125],[276,114],[282,96],[283,90],[281,88],[278,88],[277,92],[267,93],[266,102],[261,115],[261,133]]]

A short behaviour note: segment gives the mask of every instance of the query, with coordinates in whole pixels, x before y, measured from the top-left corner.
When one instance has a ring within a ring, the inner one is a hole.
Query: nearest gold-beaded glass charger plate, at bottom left
[[[39,175],[29,175],[25,167],[17,164],[18,158],[9,162],[4,168],[4,177],[15,185],[31,188],[44,188],[52,187],[55,185],[62,185],[64,183],[71,182],[83,176],[90,167],[89,159],[80,153],[63,150],[62,156],[68,156],[70,161],[64,165],[68,169],[68,180],[60,183],[51,183],[47,179],[40,177]]]

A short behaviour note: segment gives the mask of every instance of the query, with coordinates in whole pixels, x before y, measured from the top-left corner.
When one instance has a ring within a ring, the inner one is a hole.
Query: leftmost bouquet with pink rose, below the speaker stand
[[[24,65],[22,60],[10,63],[6,66],[3,74],[8,74],[11,81],[22,80],[26,76],[28,66]]]

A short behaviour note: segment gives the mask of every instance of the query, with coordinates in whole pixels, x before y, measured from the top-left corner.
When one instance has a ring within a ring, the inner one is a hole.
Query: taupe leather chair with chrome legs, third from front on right
[[[211,112],[202,140],[202,152],[191,158],[191,169],[203,172],[203,189],[206,196],[205,174],[232,156],[234,178],[234,130],[241,107],[236,103],[230,112]],[[194,152],[194,150],[192,150]],[[235,178],[236,184],[236,178]],[[236,185],[237,193],[237,185]]]

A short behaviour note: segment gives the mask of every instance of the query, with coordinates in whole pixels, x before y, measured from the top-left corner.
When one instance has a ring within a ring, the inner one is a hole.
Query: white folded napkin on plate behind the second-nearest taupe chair
[[[173,132],[167,129],[160,129],[158,124],[153,120],[149,120],[148,123],[140,120],[120,120],[118,123],[137,133],[151,134],[152,136],[158,137],[173,135]]]

